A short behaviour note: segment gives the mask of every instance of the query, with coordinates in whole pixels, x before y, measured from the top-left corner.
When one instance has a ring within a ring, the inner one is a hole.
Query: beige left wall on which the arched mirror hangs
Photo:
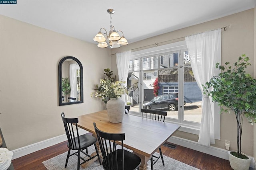
[[[84,68],[84,103],[58,106],[58,63],[73,56]],[[64,134],[60,114],[104,109],[90,93],[111,68],[110,49],[0,16],[0,126],[10,150]]]

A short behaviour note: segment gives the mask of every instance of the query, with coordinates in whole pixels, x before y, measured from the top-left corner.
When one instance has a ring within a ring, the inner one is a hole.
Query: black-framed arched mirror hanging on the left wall
[[[75,57],[68,56],[59,63],[59,106],[84,103],[83,66]]]

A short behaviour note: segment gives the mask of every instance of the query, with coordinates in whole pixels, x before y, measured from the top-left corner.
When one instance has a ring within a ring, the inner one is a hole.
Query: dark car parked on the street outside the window
[[[184,105],[186,101],[184,100]],[[169,93],[156,96],[153,100],[143,104],[144,109],[169,109],[176,111],[178,109],[178,93]]]

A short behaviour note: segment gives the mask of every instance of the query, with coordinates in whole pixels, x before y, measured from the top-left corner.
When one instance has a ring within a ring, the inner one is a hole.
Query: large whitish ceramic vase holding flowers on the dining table
[[[121,99],[110,98],[107,102],[108,119],[111,123],[120,123],[123,121],[125,111],[125,102]]]

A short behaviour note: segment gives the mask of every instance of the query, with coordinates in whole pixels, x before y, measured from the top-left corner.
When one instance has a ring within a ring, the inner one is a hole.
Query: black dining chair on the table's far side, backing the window
[[[165,120],[165,117],[167,116],[167,111],[152,110],[152,109],[141,109],[141,112],[142,112],[142,117],[145,117],[147,119],[157,120],[157,121],[163,121],[163,122]],[[158,161],[158,159],[160,157],[161,157],[162,163],[164,165],[164,158],[163,158],[161,147],[159,148],[159,153],[160,153],[159,156],[153,155],[150,158],[151,170],[154,170],[154,164],[156,163],[156,161]],[[153,160],[153,157],[156,158],[156,159]]]

